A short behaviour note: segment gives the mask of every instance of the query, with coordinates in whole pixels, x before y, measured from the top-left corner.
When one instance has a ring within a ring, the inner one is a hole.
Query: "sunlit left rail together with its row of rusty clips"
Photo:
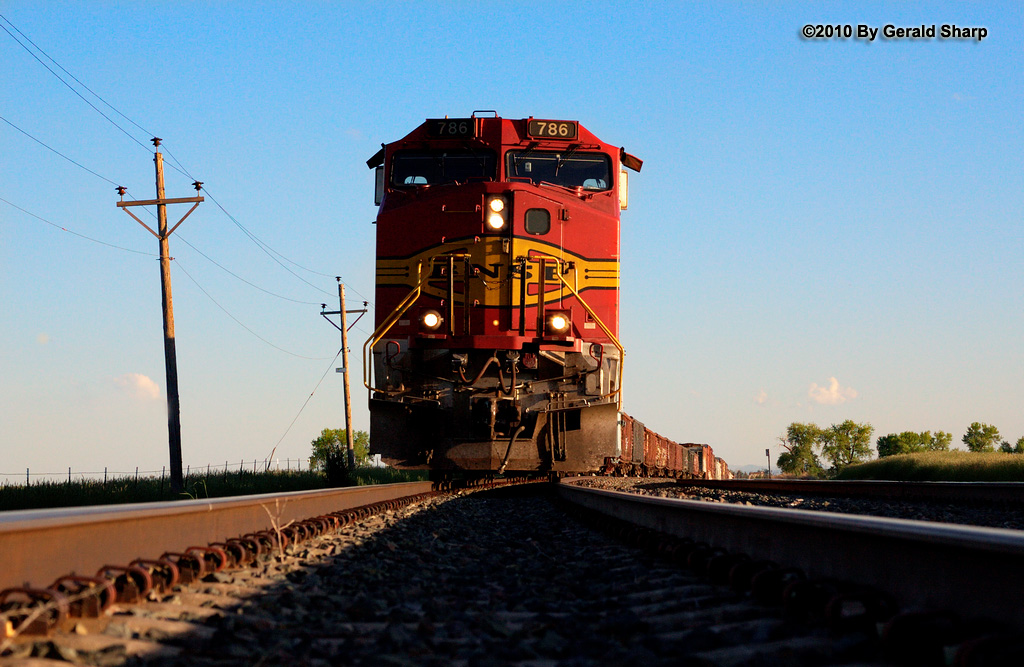
[[[0,645],[9,650],[13,638],[60,632],[74,619],[103,616],[116,602],[159,598],[178,585],[267,560],[290,545],[427,497],[430,487],[3,512]]]

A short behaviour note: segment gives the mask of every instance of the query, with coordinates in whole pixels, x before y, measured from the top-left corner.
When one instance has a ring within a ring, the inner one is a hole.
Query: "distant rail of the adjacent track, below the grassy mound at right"
[[[1013,502],[1024,500],[1022,482],[882,482],[850,480],[680,480],[682,486],[844,498],[884,498],[918,502]]]

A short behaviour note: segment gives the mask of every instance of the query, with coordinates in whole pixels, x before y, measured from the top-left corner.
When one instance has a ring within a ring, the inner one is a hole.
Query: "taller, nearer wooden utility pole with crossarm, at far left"
[[[135,221],[148,230],[150,234],[160,240],[160,286],[163,297],[164,311],[164,369],[167,374],[167,436],[168,447],[171,457],[171,491],[181,493],[184,490],[184,480],[181,475],[181,419],[178,406],[178,362],[174,349],[174,305],[171,300],[171,256],[168,246],[168,238],[174,234],[185,218],[204,201],[199,197],[199,192],[203,187],[200,181],[193,182],[197,197],[186,197],[178,199],[167,199],[164,197],[164,156],[160,152],[160,137],[153,138],[153,145],[156,148],[154,162],[157,166],[157,199],[126,202],[124,196],[126,190],[118,187],[121,201],[117,203],[119,208],[123,208],[125,213],[135,218]],[[188,212],[181,216],[170,231],[167,230],[167,205],[168,204],[191,204]],[[128,210],[130,206],[157,206],[157,228],[154,232],[150,225]]]

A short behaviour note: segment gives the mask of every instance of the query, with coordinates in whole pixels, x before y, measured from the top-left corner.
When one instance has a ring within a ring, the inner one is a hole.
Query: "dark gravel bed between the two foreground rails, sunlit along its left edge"
[[[104,631],[102,650],[62,644],[51,655],[175,667],[651,667],[773,664],[772,655],[817,665],[871,654],[870,638],[837,642],[794,624],[522,489],[369,517],[283,560],[125,608],[108,628],[114,636]]]

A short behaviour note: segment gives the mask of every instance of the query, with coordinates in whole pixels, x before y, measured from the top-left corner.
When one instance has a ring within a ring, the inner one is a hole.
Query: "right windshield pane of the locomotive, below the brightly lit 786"
[[[507,157],[509,178],[584,190],[611,187],[611,161],[603,153],[575,153],[566,147],[560,152],[509,151]]]

